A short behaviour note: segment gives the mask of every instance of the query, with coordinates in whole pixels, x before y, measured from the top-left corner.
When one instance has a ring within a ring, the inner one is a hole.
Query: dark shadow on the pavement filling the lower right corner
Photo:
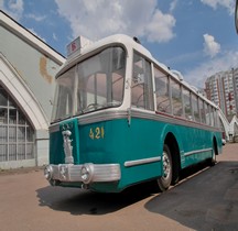
[[[176,187],[150,199],[145,209],[194,230],[238,230],[238,162],[201,170],[184,175]]]

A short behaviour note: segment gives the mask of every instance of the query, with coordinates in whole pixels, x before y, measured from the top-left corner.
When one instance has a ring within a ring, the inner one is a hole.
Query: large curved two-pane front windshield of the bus
[[[56,79],[53,122],[120,106],[125,73],[126,52],[119,46],[73,66]]]

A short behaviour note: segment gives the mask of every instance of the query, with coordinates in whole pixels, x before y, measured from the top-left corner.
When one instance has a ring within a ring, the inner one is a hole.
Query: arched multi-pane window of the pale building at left
[[[0,162],[34,158],[34,130],[0,86]]]

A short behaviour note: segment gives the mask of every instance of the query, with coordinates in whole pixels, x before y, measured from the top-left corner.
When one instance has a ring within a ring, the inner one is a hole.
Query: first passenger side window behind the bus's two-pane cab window
[[[156,110],[171,113],[169,78],[167,76],[154,67]]]

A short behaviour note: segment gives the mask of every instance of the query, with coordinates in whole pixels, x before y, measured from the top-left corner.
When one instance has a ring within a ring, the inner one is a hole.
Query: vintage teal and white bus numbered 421
[[[53,186],[119,193],[145,180],[166,190],[183,168],[221,153],[218,108],[137,38],[74,41],[56,75],[50,127]]]

